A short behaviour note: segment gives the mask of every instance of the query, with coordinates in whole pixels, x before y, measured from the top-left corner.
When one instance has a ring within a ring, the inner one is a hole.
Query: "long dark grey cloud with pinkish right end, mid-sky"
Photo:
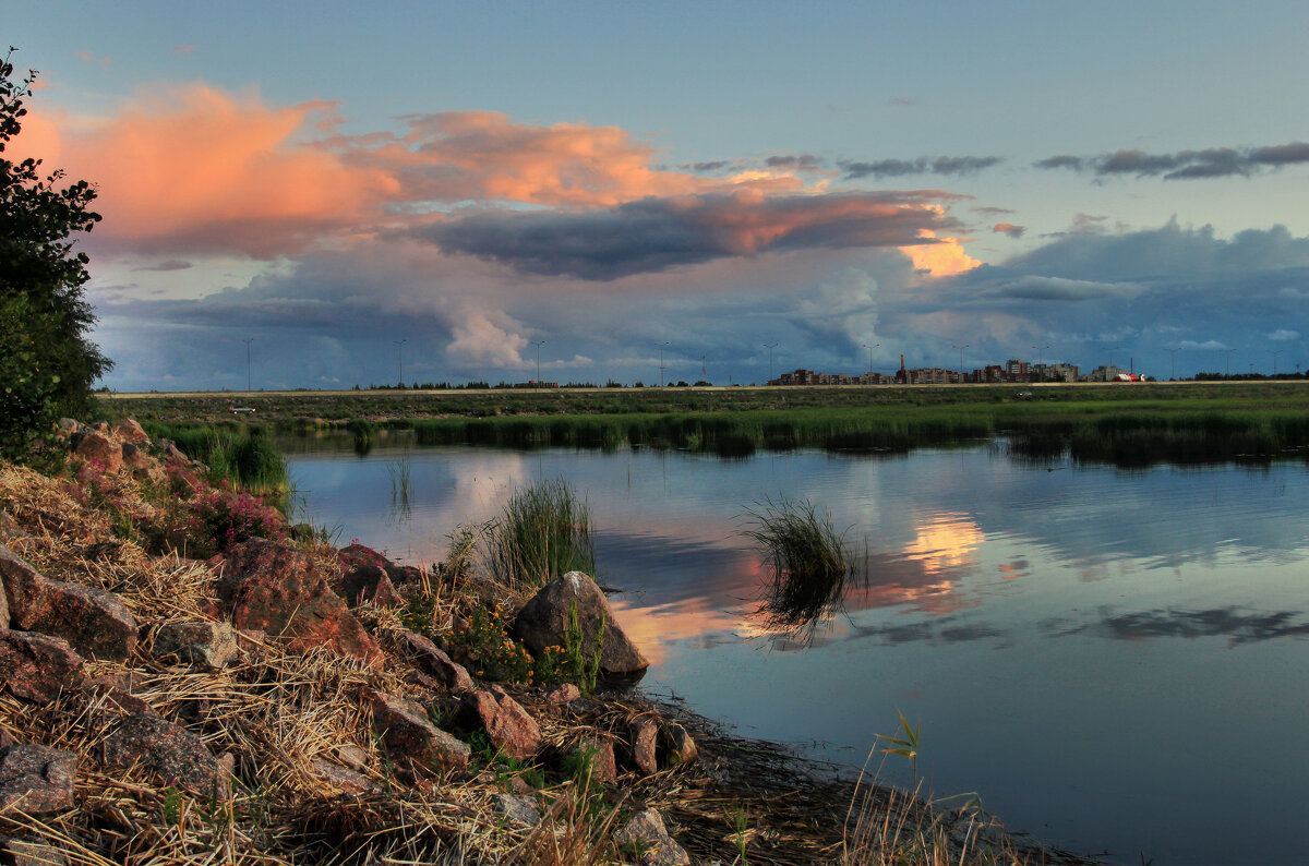
[[[584,280],[801,249],[897,247],[952,229],[940,192],[643,199],[583,213],[484,213],[414,232],[446,252]],[[931,241],[927,241],[931,242]]]

